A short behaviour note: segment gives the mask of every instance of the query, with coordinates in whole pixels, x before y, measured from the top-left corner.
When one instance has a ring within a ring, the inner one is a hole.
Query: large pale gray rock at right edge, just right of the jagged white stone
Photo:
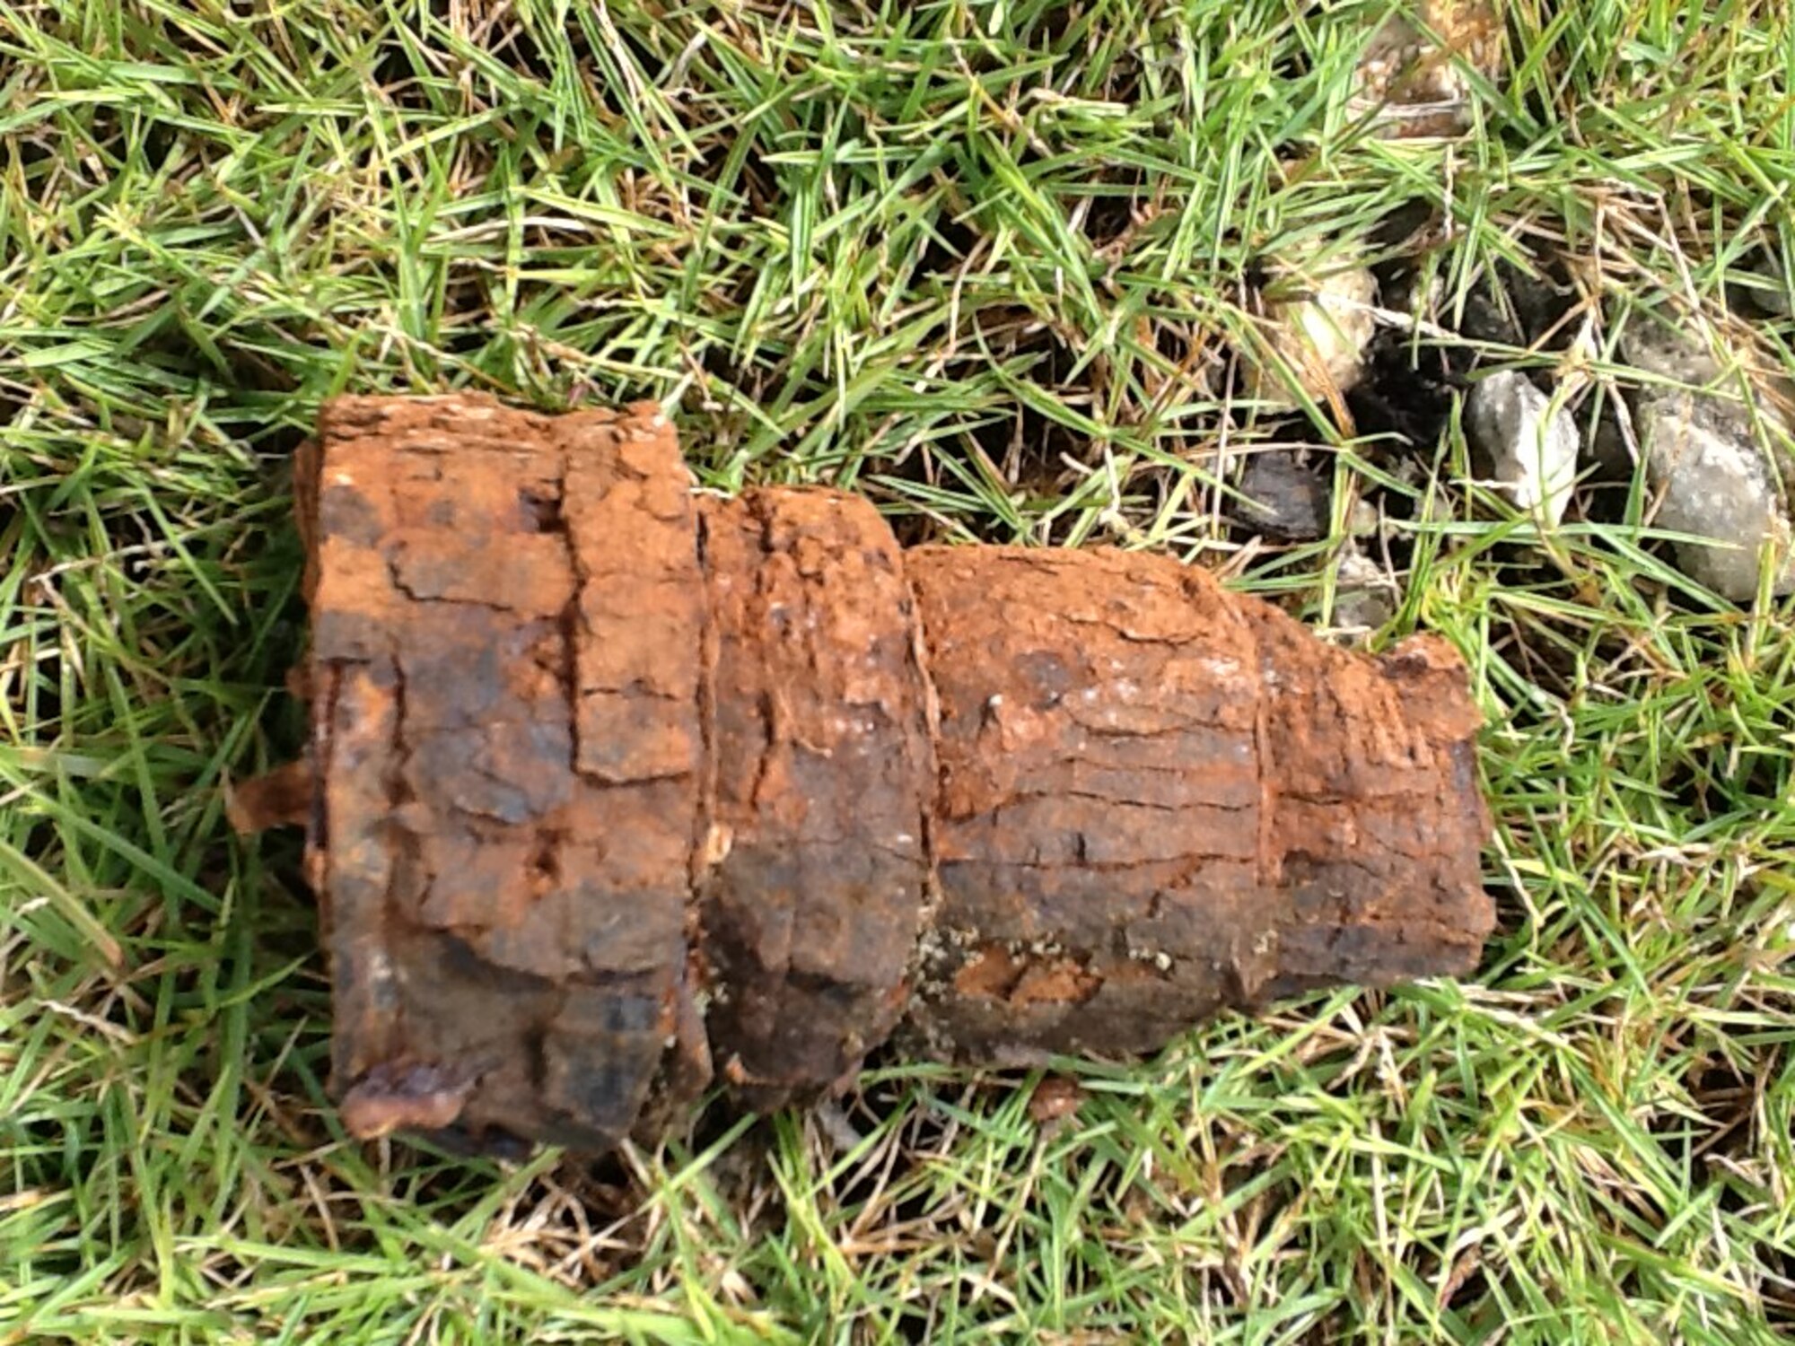
[[[1635,418],[1646,472],[1660,495],[1653,524],[1712,538],[1678,544],[1684,572],[1723,598],[1748,599],[1768,564],[1773,592],[1795,589],[1782,483],[1745,407],[1702,393],[1646,393]]]

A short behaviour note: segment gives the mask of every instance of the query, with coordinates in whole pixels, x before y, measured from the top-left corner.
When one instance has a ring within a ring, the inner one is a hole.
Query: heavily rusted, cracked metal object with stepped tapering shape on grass
[[[901,551],[831,490],[700,497],[653,407],[343,398],[298,495],[355,1134],[601,1150],[713,1080],[1136,1053],[1490,931],[1438,641],[1341,651],[1161,556]]]

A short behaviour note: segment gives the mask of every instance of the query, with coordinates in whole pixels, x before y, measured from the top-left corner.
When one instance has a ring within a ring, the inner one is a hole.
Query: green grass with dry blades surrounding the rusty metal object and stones
[[[1590,404],[1635,309],[1738,337],[1752,249],[1795,260],[1795,27],[1519,0],[1477,131],[1391,144],[1348,106],[1377,13],[0,4],[0,1342],[1795,1332],[1790,603],[1684,581],[1626,470],[1540,538],[1456,420],[1228,393],[1253,267],[1398,210],[1447,314],[1572,258]],[[461,386],[662,398],[711,485],[1167,549],[1318,625],[1343,538],[1248,538],[1224,483],[1334,452],[1389,515],[1377,639],[1447,634],[1490,720],[1483,967],[1068,1064],[1057,1129],[1030,1079],[887,1062],[858,1143],[346,1141],[296,845],[221,784],[300,743],[320,400]]]

